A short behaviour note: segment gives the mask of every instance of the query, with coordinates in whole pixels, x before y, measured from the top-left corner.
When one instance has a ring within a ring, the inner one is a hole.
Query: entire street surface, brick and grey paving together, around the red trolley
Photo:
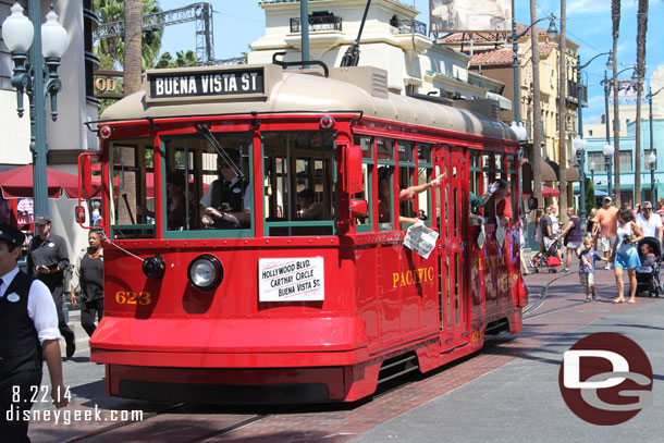
[[[664,422],[664,300],[640,297],[636,305],[612,305],[610,300],[617,296],[613,272],[598,270],[595,279],[601,300],[585,304],[576,273],[526,276],[530,304],[522,333],[493,340],[475,356],[426,377],[406,378],[358,404],[287,409],[187,406],[149,420],[146,415],[144,422],[112,431],[108,431],[108,422],[33,423],[30,438],[34,442],[58,442],[104,431],[83,441],[660,441]],[[544,298],[540,298],[542,294]],[[71,323],[77,324],[76,312],[71,316]],[[655,374],[654,406],[615,427],[580,420],[558,390],[563,352],[600,331],[636,341]],[[84,334],[79,327],[76,333]],[[65,359],[64,373],[75,396],[70,408],[97,406],[104,414],[109,409],[156,408],[106,397],[103,367],[89,362],[85,345],[73,359]]]

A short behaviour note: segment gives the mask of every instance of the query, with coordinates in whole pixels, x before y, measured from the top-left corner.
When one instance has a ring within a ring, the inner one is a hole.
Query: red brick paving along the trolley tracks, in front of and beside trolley
[[[550,285],[549,282],[554,280]],[[598,292],[602,299],[592,304],[582,303],[583,293],[578,284],[578,274],[531,274],[526,276],[531,303],[539,304],[539,294],[548,286],[546,299],[537,309],[529,312],[531,317],[524,323],[524,332],[516,337],[500,337],[487,344],[480,353],[439,368],[426,376],[411,376],[405,381],[388,386],[374,397],[352,405],[303,406],[297,409],[267,409],[260,420],[234,429],[221,436],[210,438],[206,442],[346,442],[360,436],[373,428],[381,427],[390,420],[399,420],[404,414],[429,402],[458,390],[459,387],[482,379],[487,374],[519,359],[532,358],[533,353],[541,352],[549,343],[554,342],[586,324],[605,318],[612,313],[624,312],[634,307],[655,302],[639,298],[636,305],[611,305],[617,296],[613,272],[598,270],[595,274]],[[539,357],[541,358],[541,357]],[[557,358],[557,357],[556,357]],[[557,364],[557,361],[556,361]],[[393,387],[392,390],[390,390]],[[87,405],[89,407],[89,404]],[[123,407],[127,409],[127,407]],[[165,414],[157,421],[145,426],[132,424],[107,436],[98,435],[95,442],[103,441],[149,441],[161,440],[164,433],[180,435],[175,429],[184,426],[187,435],[209,435],[214,426],[229,426],[233,420],[246,419],[244,410],[223,409],[224,417],[209,415],[209,410],[194,409],[192,415]],[[210,420],[200,419],[196,414],[208,416]],[[212,423],[210,423],[212,421]],[[159,423],[162,423],[159,426]],[[167,423],[171,423],[167,426]],[[216,424],[214,424],[216,423]],[[91,424],[91,423],[90,423]],[[211,426],[212,424],[212,426]],[[99,427],[99,423],[97,423]],[[175,427],[175,428],[174,428]],[[71,438],[72,434],[95,428],[83,429],[73,424],[69,429],[53,429],[47,423],[30,426],[30,436],[35,442],[61,441],[52,436]],[[72,432],[73,431],[73,432]],[[170,440],[170,439],[168,439]]]

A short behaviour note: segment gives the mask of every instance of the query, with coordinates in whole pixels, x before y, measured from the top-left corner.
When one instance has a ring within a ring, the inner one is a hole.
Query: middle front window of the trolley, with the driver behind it
[[[164,236],[253,236],[250,135],[202,130],[162,144]]]

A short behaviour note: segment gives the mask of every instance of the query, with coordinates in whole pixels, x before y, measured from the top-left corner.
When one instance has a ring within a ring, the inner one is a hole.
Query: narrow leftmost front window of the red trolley
[[[153,153],[151,137],[111,143],[111,238],[155,237]]]

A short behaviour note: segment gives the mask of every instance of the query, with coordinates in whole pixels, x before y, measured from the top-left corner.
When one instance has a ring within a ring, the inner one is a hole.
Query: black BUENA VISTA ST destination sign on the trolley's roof
[[[200,99],[265,94],[262,67],[217,70],[163,70],[147,74],[149,101]]]

